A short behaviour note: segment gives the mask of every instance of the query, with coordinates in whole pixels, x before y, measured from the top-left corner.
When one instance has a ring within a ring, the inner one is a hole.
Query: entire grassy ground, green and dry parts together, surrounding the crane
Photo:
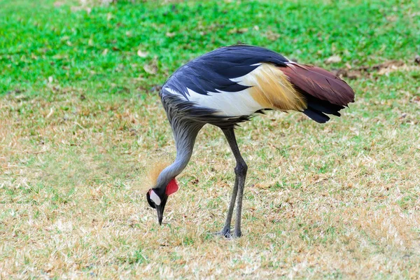
[[[1,0],[0,276],[418,277],[420,13],[365,2]],[[237,130],[241,239],[210,234],[235,163],[204,127],[160,227],[144,171],[175,151],[157,88],[239,41],[330,70],[404,66],[348,80],[356,103],[327,125],[271,112]]]

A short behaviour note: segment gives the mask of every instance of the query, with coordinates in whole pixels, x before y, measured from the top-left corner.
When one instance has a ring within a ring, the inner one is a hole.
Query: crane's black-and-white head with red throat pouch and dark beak
[[[160,225],[162,225],[163,211],[165,210],[168,197],[175,193],[176,190],[178,190],[178,183],[176,183],[175,179],[172,179],[169,181],[166,188],[151,188],[147,192],[147,202],[158,212],[158,221]]]

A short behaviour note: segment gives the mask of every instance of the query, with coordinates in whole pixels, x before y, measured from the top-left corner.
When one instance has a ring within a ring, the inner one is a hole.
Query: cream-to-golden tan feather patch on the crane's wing
[[[263,108],[303,111],[307,104],[278,67],[263,63],[241,78],[241,85],[252,86],[251,96]]]

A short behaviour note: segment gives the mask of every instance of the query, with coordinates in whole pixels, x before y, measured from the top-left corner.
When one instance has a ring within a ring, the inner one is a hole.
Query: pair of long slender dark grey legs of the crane
[[[244,195],[244,186],[246,179],[246,171],[248,166],[246,165],[245,160],[242,158],[241,153],[237,145],[235,138],[235,131],[233,127],[223,129],[226,139],[228,140],[229,146],[232,149],[232,153],[235,156],[237,165],[235,167],[235,185],[233,186],[232,199],[230,200],[230,205],[228,209],[228,217],[226,218],[225,227],[222,232],[226,237],[230,236],[230,223],[232,221],[233,208],[235,207],[235,200],[237,194],[239,193],[238,202],[237,202],[237,217],[235,221],[235,233],[234,237],[241,236],[241,212],[242,212],[242,196]]]

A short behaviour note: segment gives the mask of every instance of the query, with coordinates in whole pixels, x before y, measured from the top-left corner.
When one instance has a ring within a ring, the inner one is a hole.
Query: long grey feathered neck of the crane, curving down
[[[172,132],[176,143],[176,159],[158,177],[156,188],[166,190],[169,181],[181,174],[186,168],[193,154],[195,138],[201,130],[202,124],[186,123],[172,120]]]

